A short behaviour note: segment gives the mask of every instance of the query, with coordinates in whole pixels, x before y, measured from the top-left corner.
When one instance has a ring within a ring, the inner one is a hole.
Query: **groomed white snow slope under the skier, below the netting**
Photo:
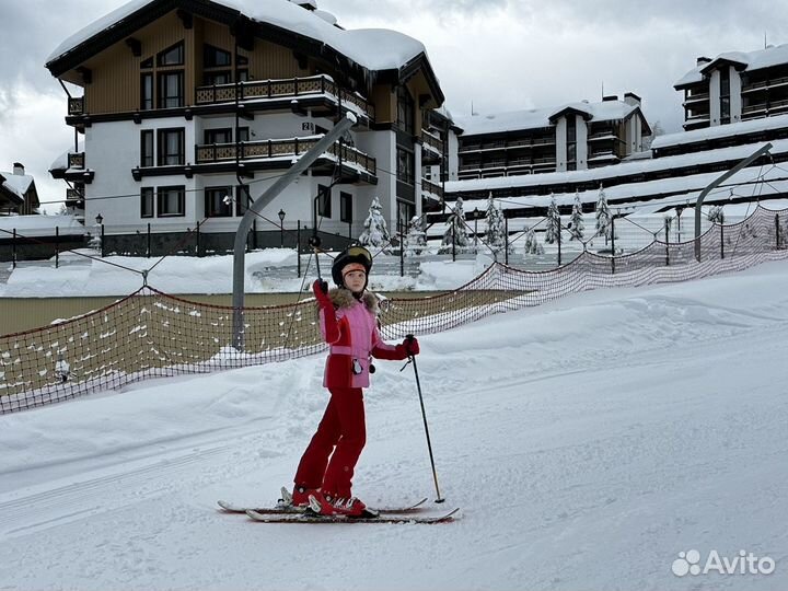
[[[757,298],[753,298],[756,293]],[[599,290],[420,338],[440,526],[253,523],[323,413],[322,356],[0,417],[9,589],[784,589],[788,263]],[[379,363],[355,478],[430,495],[413,372]],[[772,575],[680,578],[740,549]],[[309,559],[304,559],[308,556]]]

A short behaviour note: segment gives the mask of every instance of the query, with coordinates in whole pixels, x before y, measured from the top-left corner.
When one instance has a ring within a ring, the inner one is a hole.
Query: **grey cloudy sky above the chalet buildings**
[[[257,0],[265,2],[267,0]],[[73,141],[66,95],[44,67],[66,37],[125,0],[0,0],[0,171],[65,185],[49,164]],[[635,92],[667,131],[682,123],[673,83],[698,56],[788,43],[788,2],[772,0],[318,0],[346,28],[386,27],[426,46],[456,116],[549,107]],[[56,209],[55,206],[47,208]]]

